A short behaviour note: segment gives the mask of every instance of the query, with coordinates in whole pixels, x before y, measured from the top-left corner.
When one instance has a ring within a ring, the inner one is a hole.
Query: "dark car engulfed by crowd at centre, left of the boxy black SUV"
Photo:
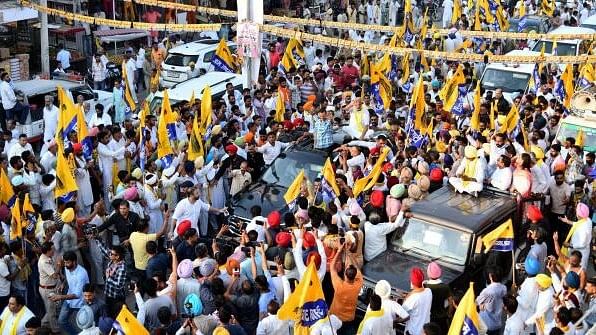
[[[312,182],[319,177],[327,153],[305,146],[291,146],[269,166],[260,180],[232,197],[231,223],[246,223],[251,219],[250,209],[260,206],[263,213],[288,211],[284,194],[300,170]]]

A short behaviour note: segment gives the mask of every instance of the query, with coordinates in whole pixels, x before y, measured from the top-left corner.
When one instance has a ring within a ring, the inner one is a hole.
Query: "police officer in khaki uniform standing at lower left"
[[[43,305],[46,310],[41,323],[43,326],[49,325],[54,333],[60,333],[60,327],[58,326],[58,318],[56,315],[56,302],[51,301],[49,298],[56,294],[58,284],[60,283],[60,272],[58,271],[56,264],[54,263],[54,243],[44,242],[41,245],[41,256],[37,266],[39,268],[39,294],[43,300]]]

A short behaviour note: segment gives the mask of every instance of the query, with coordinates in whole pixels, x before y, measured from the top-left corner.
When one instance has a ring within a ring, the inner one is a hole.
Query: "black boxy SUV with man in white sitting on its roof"
[[[474,197],[444,186],[416,202],[411,208],[413,217],[389,237],[388,250],[364,264],[359,309],[366,309],[377,281],[387,280],[393,296],[400,297],[410,290],[410,270],[426,270],[431,261],[441,265],[441,279],[453,290],[465,291],[470,281],[480,290],[489,255],[504,257],[511,268],[511,253],[484,254],[481,237],[511,218],[516,238],[523,240],[516,210],[512,195],[493,189]],[[518,242],[516,247],[521,245]]]

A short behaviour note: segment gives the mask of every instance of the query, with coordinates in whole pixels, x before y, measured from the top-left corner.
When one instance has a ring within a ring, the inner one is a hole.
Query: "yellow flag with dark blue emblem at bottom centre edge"
[[[281,305],[277,316],[280,320],[294,320],[294,334],[310,334],[310,327],[327,317],[328,308],[315,262],[310,262],[304,277],[288,300]]]

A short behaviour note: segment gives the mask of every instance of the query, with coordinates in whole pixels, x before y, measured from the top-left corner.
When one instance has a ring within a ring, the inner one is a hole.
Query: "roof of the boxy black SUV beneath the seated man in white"
[[[477,233],[493,221],[504,220],[516,206],[513,196],[492,188],[485,189],[478,197],[474,197],[444,186],[426,199],[414,203],[411,210],[414,217]]]

